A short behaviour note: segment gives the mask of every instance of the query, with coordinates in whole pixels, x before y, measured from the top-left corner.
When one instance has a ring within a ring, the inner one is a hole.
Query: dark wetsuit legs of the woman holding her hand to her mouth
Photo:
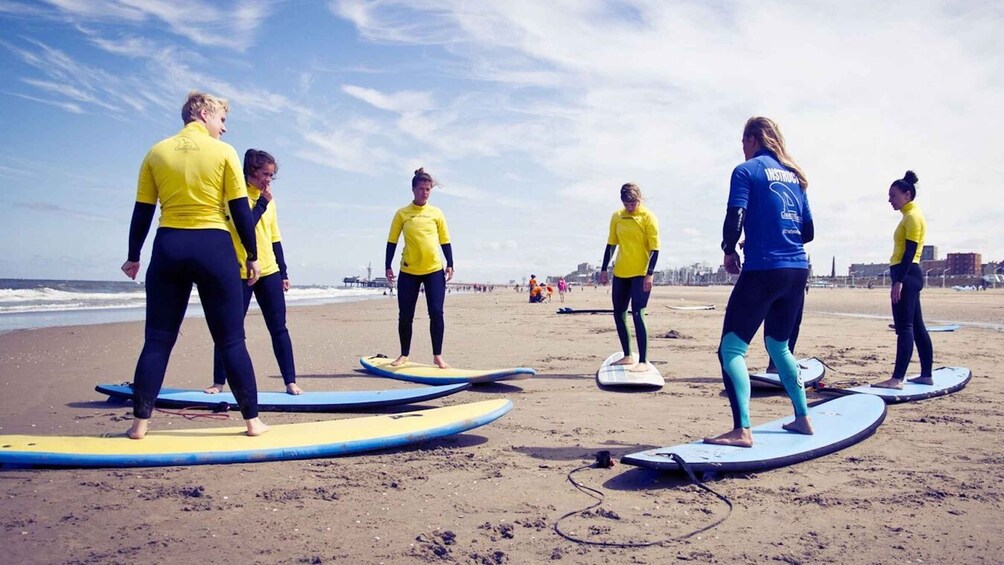
[[[247,281],[242,285],[244,289],[244,315],[247,316],[248,308],[251,306],[251,295],[254,294],[258,307],[261,308],[261,316],[265,318],[265,327],[268,328],[269,335],[272,336],[272,351],[275,353],[275,360],[279,363],[279,372],[282,374],[282,381],[285,384],[296,382],[296,366],[293,364],[293,342],[289,339],[289,330],[286,329],[286,296],[282,290],[282,273],[272,273],[261,277],[254,286],[248,286]],[[223,357],[220,349],[214,348],[213,359],[213,384],[223,386],[227,382],[227,371],[223,368]]]

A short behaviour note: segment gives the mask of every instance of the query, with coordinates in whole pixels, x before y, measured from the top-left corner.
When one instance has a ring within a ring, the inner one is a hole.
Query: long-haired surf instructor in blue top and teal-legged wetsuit
[[[795,419],[783,428],[812,434],[805,389],[788,339],[805,300],[808,257],[803,244],[812,241],[814,230],[806,196],[808,182],[788,156],[777,124],[766,117],[751,117],[742,142],[746,162],[732,172],[722,228],[725,269],[739,274],[739,280],[729,297],[718,348],[733,426],[730,432],[704,441],[749,448],[753,434],[746,351],[761,323],[767,352],[794,406]],[[744,231],[746,264],[741,265],[736,244]]]

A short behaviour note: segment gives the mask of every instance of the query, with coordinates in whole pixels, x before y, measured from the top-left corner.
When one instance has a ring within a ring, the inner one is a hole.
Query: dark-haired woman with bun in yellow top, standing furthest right
[[[880,388],[903,388],[910,359],[914,356],[914,343],[921,357],[921,374],[911,378],[911,382],[934,384],[934,346],[924,325],[921,313],[921,290],[924,288],[924,273],[921,272],[921,250],[927,235],[928,223],[917,198],[917,175],[907,171],[903,179],[893,181],[889,188],[889,203],[893,210],[899,210],[903,219],[893,234],[893,256],[890,258],[889,275],[893,283],[890,298],[893,302],[893,322],[896,325],[896,365],[893,376],[875,382],[871,386]]]

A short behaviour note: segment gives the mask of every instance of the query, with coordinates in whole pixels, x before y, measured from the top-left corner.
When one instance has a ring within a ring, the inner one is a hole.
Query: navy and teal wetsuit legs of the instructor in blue
[[[808,407],[798,363],[788,350],[788,339],[805,300],[806,269],[743,270],[739,275],[722,324],[718,360],[722,363],[725,391],[732,406],[733,428],[750,428],[750,376],[746,351],[760,324],[764,325],[767,353],[778,369],[795,415]]]

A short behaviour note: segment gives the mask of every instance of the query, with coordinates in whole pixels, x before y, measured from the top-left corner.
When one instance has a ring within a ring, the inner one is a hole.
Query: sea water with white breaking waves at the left
[[[383,297],[383,289],[294,286],[286,306],[308,306]],[[147,293],[133,281],[0,279],[0,332],[38,327],[142,320]],[[252,299],[251,308],[257,308]],[[187,317],[202,316],[198,290],[192,289]]]

